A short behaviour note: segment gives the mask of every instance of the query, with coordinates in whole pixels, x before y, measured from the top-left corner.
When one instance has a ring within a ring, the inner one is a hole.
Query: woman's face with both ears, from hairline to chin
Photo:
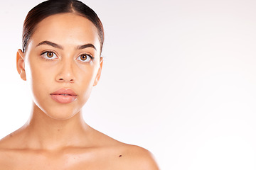
[[[78,113],[100,79],[102,58],[97,28],[87,18],[56,14],[36,26],[26,55],[17,55],[22,79],[29,81],[35,106],[51,118]]]

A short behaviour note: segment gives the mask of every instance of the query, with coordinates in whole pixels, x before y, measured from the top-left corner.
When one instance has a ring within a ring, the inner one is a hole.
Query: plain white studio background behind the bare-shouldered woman
[[[30,115],[16,50],[39,2],[0,2],[0,138]],[[149,149],[161,169],[256,169],[255,0],[84,2],[106,34],[89,125]]]

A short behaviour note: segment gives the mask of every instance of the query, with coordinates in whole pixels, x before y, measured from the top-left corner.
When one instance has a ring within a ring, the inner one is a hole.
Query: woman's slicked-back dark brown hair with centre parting
[[[90,20],[98,30],[100,53],[104,42],[104,29],[100,18],[89,6],[77,0],[48,0],[38,4],[28,12],[23,24],[22,48],[26,52],[28,42],[35,32],[36,26],[44,18],[58,13],[78,13]]]

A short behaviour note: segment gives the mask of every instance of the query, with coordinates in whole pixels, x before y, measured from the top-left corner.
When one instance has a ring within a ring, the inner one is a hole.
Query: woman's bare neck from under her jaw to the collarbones
[[[79,147],[80,143],[86,143],[88,128],[81,111],[68,120],[56,120],[34,104],[31,118],[26,123],[27,147],[48,150]]]

